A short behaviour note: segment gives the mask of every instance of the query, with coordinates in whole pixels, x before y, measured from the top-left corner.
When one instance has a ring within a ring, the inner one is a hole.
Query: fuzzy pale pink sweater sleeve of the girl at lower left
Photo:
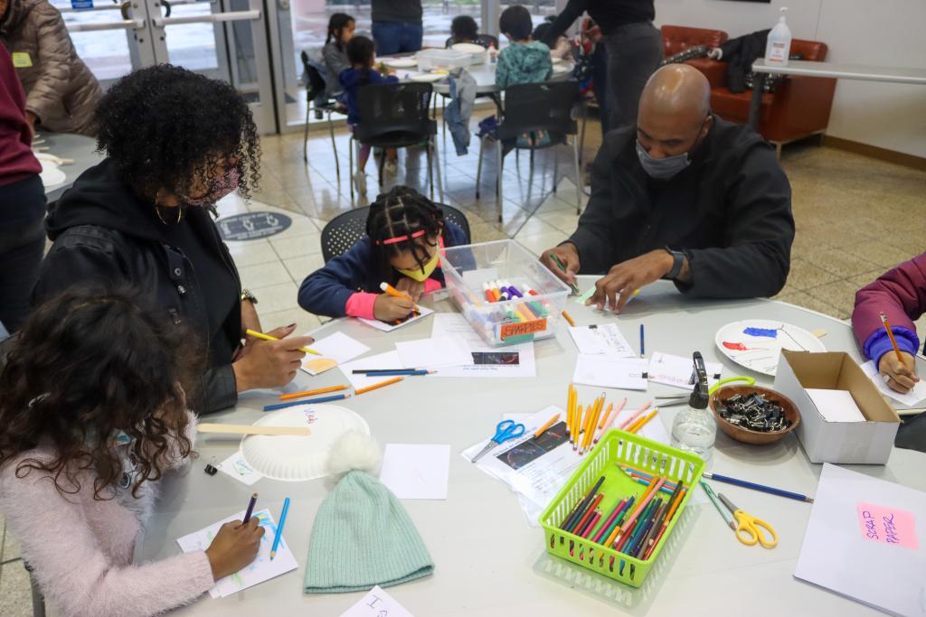
[[[64,614],[152,615],[194,601],[214,583],[205,551],[120,566],[97,546],[80,502],[61,498],[48,479],[4,484],[6,522],[23,559]]]

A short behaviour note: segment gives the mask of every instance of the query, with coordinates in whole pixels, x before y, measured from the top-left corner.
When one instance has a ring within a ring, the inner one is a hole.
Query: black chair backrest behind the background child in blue
[[[422,139],[437,132],[430,115],[433,88],[430,83],[375,83],[357,91],[360,123],[355,137],[360,142],[388,133],[416,133]]]

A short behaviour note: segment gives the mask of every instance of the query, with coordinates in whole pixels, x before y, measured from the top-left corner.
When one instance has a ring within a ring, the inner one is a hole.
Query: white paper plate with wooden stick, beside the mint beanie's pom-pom
[[[367,421],[338,405],[299,405],[270,412],[256,426],[309,426],[308,437],[251,435],[242,439],[244,462],[274,480],[303,482],[328,475],[334,441],[350,430],[369,435]]]

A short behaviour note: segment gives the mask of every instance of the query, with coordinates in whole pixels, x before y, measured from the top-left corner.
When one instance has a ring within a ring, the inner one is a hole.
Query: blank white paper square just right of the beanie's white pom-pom
[[[387,443],[380,481],[400,500],[445,500],[450,446]]]

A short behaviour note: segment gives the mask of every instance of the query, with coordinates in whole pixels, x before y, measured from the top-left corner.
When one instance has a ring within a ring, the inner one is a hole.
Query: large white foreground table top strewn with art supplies
[[[587,289],[594,278],[583,278]],[[425,302],[427,303],[427,302]],[[438,311],[450,303],[434,304]],[[781,319],[807,329],[823,327],[830,350],[849,352],[859,360],[857,345],[845,323],[782,302],[750,300],[708,302],[682,299],[669,283],[646,287],[620,317],[595,315],[575,303],[569,312],[580,324],[617,320],[632,344],[638,344],[639,324],[646,327],[646,349],[690,354],[704,353],[720,361],[728,376],[742,368],[727,361],[713,343],[717,329],[745,317]],[[353,320],[338,320],[319,333],[336,330],[360,339],[372,351],[383,352],[397,340],[430,335],[432,320],[422,320],[391,335],[374,331]],[[632,589],[597,574],[551,558],[544,552],[544,535],[525,521],[518,500],[502,483],[465,461],[460,451],[491,435],[503,412],[534,412],[545,405],[563,405],[572,375],[575,347],[565,329],[556,339],[538,342],[537,377],[516,384],[496,379],[412,377],[404,382],[350,399],[346,406],[363,415],[372,434],[382,443],[450,443],[449,499],[405,501],[411,518],[431,551],[434,575],[390,593],[415,615],[851,615],[879,614],[856,602],[834,595],[792,577],[801,548],[810,506],[744,488],[722,485],[734,503],[774,525],[780,537],[776,549],[745,547],[732,536],[710,503],[693,505],[677,525],[678,542],[664,551],[640,589]],[[920,369],[926,362],[920,358]],[[757,376],[757,375],[756,375]],[[770,379],[757,376],[759,383]],[[344,382],[337,369],[318,377],[300,374],[288,389],[307,389]],[[600,390],[579,387],[591,400]],[[628,405],[639,405],[658,394],[678,389],[651,385],[646,393],[610,391],[608,398],[627,394]],[[210,421],[252,423],[260,406],[275,401],[275,393],[257,392],[242,397],[232,411]],[[657,418],[671,426],[678,407]],[[229,598],[201,598],[181,609],[187,615],[339,615],[362,594],[305,595],[302,582],[308,540],[319,503],[329,493],[322,481],[282,483],[262,479],[245,487],[231,477],[203,472],[237,448],[234,442],[200,440],[201,457],[189,475],[165,481],[163,500],[157,506],[144,541],[144,559],[165,558],[179,549],[176,538],[244,509],[253,490],[258,507],[279,512],[284,496],[292,498],[285,537],[300,568]],[[820,465],[807,462],[792,435],[781,443],[750,447],[718,434],[714,471],[767,482],[805,494],[816,491]],[[922,473],[926,455],[894,450],[887,465],[853,467],[861,473],[926,490]]]

